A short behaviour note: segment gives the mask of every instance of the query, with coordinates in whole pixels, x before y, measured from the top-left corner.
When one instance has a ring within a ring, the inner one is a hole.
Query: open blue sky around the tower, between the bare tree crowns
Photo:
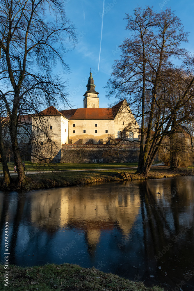
[[[184,44],[184,47],[194,53],[193,1],[105,0],[102,48],[98,72],[103,0],[67,0],[66,14],[76,26],[79,39],[76,48],[65,56],[65,61],[70,66],[71,73],[65,75],[64,78],[69,79],[68,99],[74,108],[83,108],[83,94],[86,92],[90,67],[96,85],[95,89],[100,93],[100,107],[106,108],[108,104],[115,102],[114,98],[106,99],[106,92],[103,87],[106,86],[111,75],[114,59],[118,59],[120,56],[118,46],[125,37],[129,36],[129,31],[125,30],[126,20],[123,20],[125,13],[133,14],[133,9],[137,5],[142,7],[145,5],[153,6],[156,11],[166,7],[175,10],[175,14],[181,19],[185,31],[190,32],[189,43]]]

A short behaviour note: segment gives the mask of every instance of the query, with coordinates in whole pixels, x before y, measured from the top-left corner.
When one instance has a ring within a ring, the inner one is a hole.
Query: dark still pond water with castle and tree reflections
[[[194,177],[0,192],[1,262],[77,263],[165,290],[194,290]],[[160,194],[156,194],[160,193]]]

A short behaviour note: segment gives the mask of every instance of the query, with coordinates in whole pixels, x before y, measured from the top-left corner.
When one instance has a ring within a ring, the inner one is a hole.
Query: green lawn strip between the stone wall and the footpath
[[[137,167],[138,163],[99,163],[99,164],[81,164],[81,170],[90,169],[108,169],[108,168],[126,168],[126,167]],[[8,163],[10,171],[14,171],[14,163]],[[64,170],[79,170],[79,164],[35,164],[31,162],[25,162],[27,171],[64,171]],[[2,171],[2,164],[0,163],[0,171]]]

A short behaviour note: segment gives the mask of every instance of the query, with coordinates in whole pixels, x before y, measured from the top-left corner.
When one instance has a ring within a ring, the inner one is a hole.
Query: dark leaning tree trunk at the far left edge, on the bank
[[[3,184],[5,186],[8,186],[11,183],[12,178],[9,173],[6,154],[5,154],[4,145],[3,145],[1,116],[0,116],[0,154],[1,154],[2,166],[3,166]]]

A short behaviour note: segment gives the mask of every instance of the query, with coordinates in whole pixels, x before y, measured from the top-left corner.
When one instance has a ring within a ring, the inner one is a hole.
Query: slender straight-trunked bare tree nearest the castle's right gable
[[[132,32],[131,38],[126,38],[120,48],[122,55],[120,60],[116,60],[113,66],[112,77],[108,81],[108,96],[116,97],[128,94],[127,102],[133,107],[136,118],[141,117],[141,139],[139,165],[143,164],[143,141],[145,122],[145,89],[146,73],[148,70],[147,59],[152,46],[151,31],[157,25],[157,15],[151,7],[144,9],[137,7],[134,15],[126,14],[126,29]],[[147,76],[148,77],[148,76]],[[111,89],[109,89],[111,88]]]

